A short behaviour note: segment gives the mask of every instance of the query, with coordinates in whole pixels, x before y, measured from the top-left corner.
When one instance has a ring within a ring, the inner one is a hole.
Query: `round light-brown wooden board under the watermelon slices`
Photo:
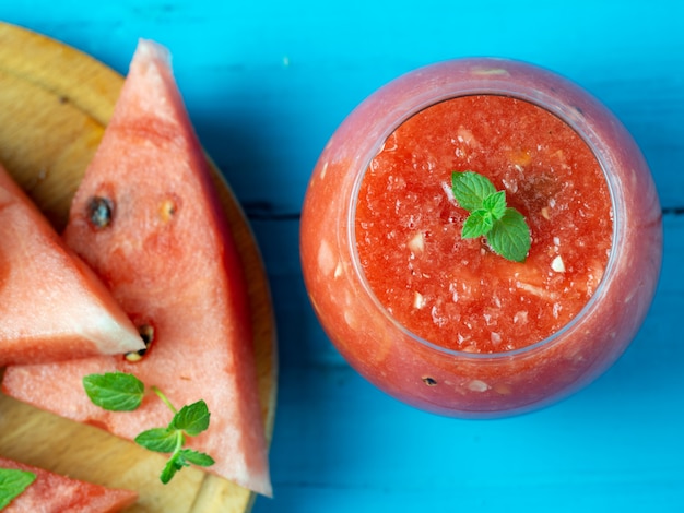
[[[58,230],[122,83],[122,76],[73,48],[0,23],[0,162]],[[270,290],[247,219],[212,167],[249,278],[259,392],[270,440],[276,393]],[[138,490],[140,500],[127,512],[243,513],[255,500],[248,490],[197,468],[184,469],[164,486],[157,477],[162,455],[2,395],[0,454],[78,479]]]

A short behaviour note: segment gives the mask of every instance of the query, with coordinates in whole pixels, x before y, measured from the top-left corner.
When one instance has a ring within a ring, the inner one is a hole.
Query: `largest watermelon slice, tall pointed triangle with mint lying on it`
[[[91,219],[94,198],[111,207]],[[105,216],[106,217],[106,216]],[[106,226],[101,226],[106,225]],[[132,413],[105,411],[81,380],[130,372],[180,408],[204,399],[209,430],[188,445],[208,468],[270,496],[250,309],[239,254],[205,156],[174,81],[167,51],[141,40],[113,118],[74,198],[64,239],[108,285],[138,326],[152,326],[144,357],[11,367],[3,390],[21,401],[132,439],[170,411],[154,394]],[[161,469],[160,469],[161,470]]]

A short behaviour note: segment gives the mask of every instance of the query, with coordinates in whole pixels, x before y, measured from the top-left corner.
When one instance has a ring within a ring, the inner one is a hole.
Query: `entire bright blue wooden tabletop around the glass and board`
[[[684,511],[684,8],[675,1],[2,2],[0,17],[125,73],[139,37],[174,55],[202,143],[243,203],[280,343],[274,499],[255,512]],[[522,417],[453,420],[386,396],[322,333],[298,260],[309,174],[366,95],[462,56],[568,76],[651,165],[665,253],[650,314],[595,383]]]

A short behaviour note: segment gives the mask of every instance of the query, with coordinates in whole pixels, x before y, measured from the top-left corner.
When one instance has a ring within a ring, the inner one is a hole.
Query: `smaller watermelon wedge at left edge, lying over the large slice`
[[[99,278],[0,166],[0,367],[141,347]]]

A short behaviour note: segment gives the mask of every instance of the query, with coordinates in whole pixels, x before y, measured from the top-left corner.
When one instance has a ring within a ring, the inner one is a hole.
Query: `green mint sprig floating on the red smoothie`
[[[530,228],[520,212],[507,206],[506,191],[497,191],[486,177],[474,171],[453,171],[451,190],[459,205],[470,212],[461,237],[485,237],[497,254],[524,262],[532,243]]]

